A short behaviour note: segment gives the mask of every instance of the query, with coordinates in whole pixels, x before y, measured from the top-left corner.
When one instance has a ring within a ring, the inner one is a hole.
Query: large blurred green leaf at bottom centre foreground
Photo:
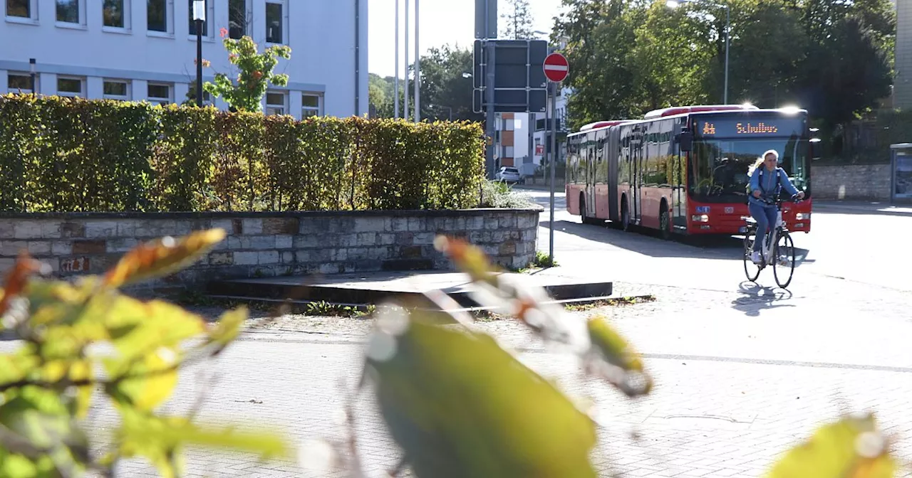
[[[552,383],[489,336],[399,319],[378,325],[368,370],[417,476],[596,476],[595,426]]]

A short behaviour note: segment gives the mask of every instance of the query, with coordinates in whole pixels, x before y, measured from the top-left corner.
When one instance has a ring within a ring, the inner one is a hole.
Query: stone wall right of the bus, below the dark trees
[[[817,199],[890,200],[889,164],[811,167],[811,194]]]

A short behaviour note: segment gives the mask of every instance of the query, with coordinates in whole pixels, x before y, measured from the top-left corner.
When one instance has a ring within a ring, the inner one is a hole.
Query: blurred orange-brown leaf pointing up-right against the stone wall
[[[105,274],[104,284],[119,288],[181,270],[209,252],[225,235],[224,229],[206,229],[181,239],[167,237],[140,244]]]

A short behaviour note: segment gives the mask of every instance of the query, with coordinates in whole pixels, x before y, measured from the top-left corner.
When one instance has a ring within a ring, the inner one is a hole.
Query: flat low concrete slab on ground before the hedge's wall
[[[606,298],[612,281],[601,274],[570,273],[560,268],[530,273],[504,272],[530,285],[544,288],[554,300]],[[474,286],[462,272],[367,272],[326,276],[288,276],[213,281],[212,297],[249,300],[326,301],[337,304],[377,304],[391,297],[417,297],[428,290],[443,290],[463,307],[477,307]]]

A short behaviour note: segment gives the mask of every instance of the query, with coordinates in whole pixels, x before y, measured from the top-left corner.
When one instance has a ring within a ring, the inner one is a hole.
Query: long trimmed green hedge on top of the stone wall
[[[474,208],[476,123],[0,96],[0,210]]]

